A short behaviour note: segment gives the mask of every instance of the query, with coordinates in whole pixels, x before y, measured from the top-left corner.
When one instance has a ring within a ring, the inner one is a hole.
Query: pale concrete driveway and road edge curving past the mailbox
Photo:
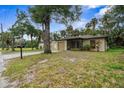
[[[29,56],[29,55],[35,55],[43,53],[43,51],[33,51],[33,52],[24,52],[23,56]],[[5,64],[7,63],[7,60],[20,57],[20,53],[9,53],[9,54],[1,54],[0,52],[0,88],[8,87],[9,82],[6,77],[2,77],[2,72],[5,70]],[[13,86],[11,86],[13,87]]]

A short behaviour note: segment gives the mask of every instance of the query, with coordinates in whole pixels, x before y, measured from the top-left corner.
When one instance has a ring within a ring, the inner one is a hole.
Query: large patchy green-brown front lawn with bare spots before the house
[[[124,87],[124,50],[16,58],[3,75],[18,82],[17,87]]]

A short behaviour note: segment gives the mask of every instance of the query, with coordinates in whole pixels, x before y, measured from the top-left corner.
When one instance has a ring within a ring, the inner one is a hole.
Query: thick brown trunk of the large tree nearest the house
[[[48,16],[45,22],[44,31],[44,53],[51,53],[50,49],[50,17]]]

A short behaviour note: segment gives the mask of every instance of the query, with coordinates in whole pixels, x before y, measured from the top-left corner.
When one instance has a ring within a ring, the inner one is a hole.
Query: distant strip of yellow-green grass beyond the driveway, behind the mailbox
[[[38,51],[38,50],[41,51],[41,49],[33,49],[33,50],[32,50],[32,48],[23,48],[23,51],[24,51],[24,52]],[[9,49],[9,50],[6,50],[6,49],[2,50],[2,49],[0,48],[0,51],[1,51],[3,54],[6,54],[6,53],[14,53],[14,52],[19,52],[19,51],[20,51],[20,48],[15,48],[15,51],[12,51],[11,49]]]

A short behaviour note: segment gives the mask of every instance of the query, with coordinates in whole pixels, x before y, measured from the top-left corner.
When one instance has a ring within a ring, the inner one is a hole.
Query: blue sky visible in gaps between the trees
[[[0,5],[0,23],[3,24],[4,31],[6,31],[12,24],[16,21],[16,9],[20,9],[23,11],[28,11],[28,5]],[[94,17],[101,17],[104,15],[108,6],[82,6],[82,15],[80,16],[80,21],[74,22],[72,25],[74,28],[82,28],[85,26],[87,22],[89,22]],[[62,24],[55,23],[54,21],[51,23],[51,31],[59,31],[65,29],[65,26]]]

